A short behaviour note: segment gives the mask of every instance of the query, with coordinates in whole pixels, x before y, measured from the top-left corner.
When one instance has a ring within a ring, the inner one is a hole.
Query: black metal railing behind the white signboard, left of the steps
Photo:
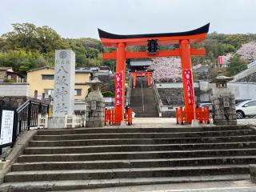
[[[5,108],[5,110],[9,110]],[[2,147],[14,146],[18,137],[25,131],[30,130],[30,127],[38,126],[38,115],[45,115],[49,110],[49,105],[46,102],[37,100],[28,100],[14,111],[14,126],[12,131],[12,142],[0,145],[0,154]],[[1,121],[2,121],[2,117]],[[0,122],[1,122],[0,121]],[[1,125],[0,128],[2,129]],[[1,130],[0,129],[0,130]],[[1,136],[1,135],[0,135]]]

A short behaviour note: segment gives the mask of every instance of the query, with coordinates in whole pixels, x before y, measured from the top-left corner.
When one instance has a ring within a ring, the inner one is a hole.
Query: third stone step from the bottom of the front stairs
[[[256,163],[256,155],[202,158],[166,158],[166,159],[129,159],[97,160],[87,162],[19,162],[12,166],[12,171],[28,170],[94,170],[119,168],[145,168],[170,166],[210,166],[241,165]]]

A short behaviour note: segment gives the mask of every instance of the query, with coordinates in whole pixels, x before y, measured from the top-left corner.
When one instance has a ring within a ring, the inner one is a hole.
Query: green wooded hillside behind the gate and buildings
[[[247,48],[238,51],[242,45]],[[208,65],[210,73],[218,66],[218,56],[238,54],[245,62],[256,58],[256,34],[208,34],[204,42],[192,46],[206,49],[206,56],[193,57],[193,65]],[[255,46],[252,46],[252,45]],[[174,49],[177,45],[160,47]],[[249,47],[249,48],[248,48]],[[254,48],[252,48],[254,47]],[[102,61],[102,53],[113,48],[105,48],[94,38],[62,38],[49,26],[35,26],[31,23],[13,24],[13,30],[2,34],[0,38],[0,66],[12,66],[15,71],[26,74],[40,66],[54,66],[54,50],[72,49],[76,54],[76,66],[110,66],[114,69],[114,61]],[[251,54],[251,50],[254,53]],[[130,50],[145,50],[145,47],[131,47]],[[127,61],[129,63],[129,60]],[[244,67],[244,66],[243,66]]]

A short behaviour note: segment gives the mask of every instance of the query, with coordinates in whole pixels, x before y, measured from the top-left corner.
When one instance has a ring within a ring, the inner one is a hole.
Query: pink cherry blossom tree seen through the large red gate
[[[182,82],[180,58],[154,58],[150,69],[156,82]]]

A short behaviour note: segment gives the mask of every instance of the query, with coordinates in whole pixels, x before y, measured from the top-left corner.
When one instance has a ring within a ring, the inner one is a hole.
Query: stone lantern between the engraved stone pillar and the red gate
[[[86,98],[86,127],[104,126],[105,102],[102,96],[100,86],[102,82],[94,78],[86,85],[91,87],[91,91]]]

